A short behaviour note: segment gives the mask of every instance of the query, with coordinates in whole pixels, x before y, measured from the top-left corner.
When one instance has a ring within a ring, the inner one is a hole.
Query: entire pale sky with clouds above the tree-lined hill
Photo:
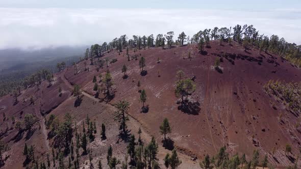
[[[120,35],[193,36],[206,28],[253,24],[260,34],[301,44],[301,1],[0,0],[0,49],[110,42]]]

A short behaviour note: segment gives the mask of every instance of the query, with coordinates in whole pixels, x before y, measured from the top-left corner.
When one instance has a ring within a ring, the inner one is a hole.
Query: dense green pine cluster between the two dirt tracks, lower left
[[[82,149],[82,155],[89,154],[91,164],[91,150],[88,149],[88,143],[93,142],[95,138],[95,134],[97,133],[96,123],[92,122],[87,115],[85,122],[83,122],[82,132],[78,131],[76,123],[74,123],[74,125],[72,124],[73,120],[69,113],[65,114],[62,121],[60,121],[59,118],[55,115],[50,115],[48,119],[45,119],[46,129],[49,129],[48,135],[54,137],[55,140],[54,147],[52,148],[52,163],[54,167],[56,167],[58,161],[59,168],[67,168],[64,164],[64,158],[68,157],[68,168],[72,166],[72,168],[79,169],[79,158],[81,156],[80,149]],[[85,128],[85,125],[88,126],[87,130]],[[75,145],[72,139],[74,132],[76,142]],[[104,124],[102,124],[101,138],[106,139],[106,126]],[[34,156],[34,149],[35,148],[33,145],[28,147],[26,144],[24,146],[23,155],[26,156],[24,165],[26,165],[27,168],[36,169],[44,169],[46,168],[46,166],[47,168],[51,167],[49,154],[47,154],[46,162],[41,161],[39,167],[38,160],[35,159]]]

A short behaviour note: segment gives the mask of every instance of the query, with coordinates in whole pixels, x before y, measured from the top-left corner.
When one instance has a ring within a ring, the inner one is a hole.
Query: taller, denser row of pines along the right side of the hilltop
[[[203,50],[203,45],[209,45],[210,40],[219,39],[220,42],[227,40],[230,44],[234,40],[242,43],[245,49],[248,46],[254,46],[262,51],[269,51],[279,54],[297,67],[301,67],[301,46],[295,43],[286,42],[284,38],[279,38],[277,35],[270,37],[259,34],[259,31],[253,25],[236,25],[233,27],[214,27],[213,29],[205,29],[199,31],[191,38],[191,43],[198,43],[199,49]]]

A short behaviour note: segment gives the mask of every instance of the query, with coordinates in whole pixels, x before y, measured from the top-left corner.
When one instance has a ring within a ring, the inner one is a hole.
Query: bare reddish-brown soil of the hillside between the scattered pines
[[[92,149],[95,167],[98,159],[103,161],[105,168],[108,167],[106,153],[109,145],[113,147],[113,154],[123,161],[127,144],[122,140],[117,141],[118,123],[114,121],[115,107],[112,106],[123,99],[131,104],[128,124],[130,132],[137,138],[138,128],[141,127],[142,138],[146,142],[150,140],[150,136],[155,136],[159,143],[158,158],[161,165],[165,154],[170,152],[162,147],[162,135],[159,132],[164,118],[168,118],[171,124],[172,132],[168,136],[174,141],[182,160],[179,168],[199,168],[198,161],[206,154],[216,154],[222,146],[226,146],[232,155],[245,153],[248,160],[252,158],[253,151],[258,149],[260,161],[264,155],[268,155],[269,163],[275,166],[293,165],[301,143],[301,133],[295,127],[298,117],[267,95],[263,86],[270,79],[299,82],[301,71],[277,55],[264,52],[259,54],[259,50],[255,48],[244,51],[235,42],[233,45],[219,45],[218,41],[211,41],[211,48],[205,50],[205,53],[199,53],[195,44],[171,49],[141,49],[135,53],[130,50],[130,55],[139,56],[138,60],[131,61],[126,57],[126,50],[120,55],[115,50],[105,53],[104,57],[118,60],[108,67],[114,82],[114,98],[109,101],[104,99],[104,95],[94,98],[92,82],[94,75],[98,81],[98,75],[104,74],[106,65],[99,72],[96,71],[96,66],[91,65],[88,66],[89,71],[84,71],[84,62],[77,64],[81,70],[77,75],[74,75],[73,67],[68,67],[55,75],[51,87],[47,87],[48,82],[44,81],[40,90],[34,87],[22,91],[16,105],[13,105],[12,96],[0,98],[0,114],[5,113],[9,119],[4,121],[3,116],[0,116],[1,138],[10,147],[4,154],[8,157],[4,168],[23,167],[24,143],[35,145],[37,158],[45,160],[54,140],[47,138],[44,117],[54,114],[63,118],[66,112],[70,112],[78,127],[81,127],[87,114],[96,122],[96,138],[88,144]],[[191,58],[188,57],[189,51]],[[145,76],[140,75],[141,56],[146,60]],[[214,69],[216,57],[222,58],[222,72]],[[121,72],[124,64],[128,67],[126,79],[122,78]],[[178,70],[183,70],[186,77],[196,77],[196,91],[189,97],[194,105],[190,111],[178,109],[178,98],[174,94],[177,81],[175,73]],[[138,80],[141,82],[140,88],[146,90],[147,94],[146,104],[149,110],[146,113],[141,112]],[[83,90],[83,101],[77,107],[74,106],[76,98],[72,96],[74,84],[80,85]],[[63,91],[61,97],[58,87]],[[30,104],[30,96],[35,99],[34,104]],[[34,128],[32,135],[24,132],[17,137],[18,132],[10,119],[14,116],[16,121],[21,121],[25,114],[35,114],[40,119],[40,124]],[[101,140],[100,136],[102,123],[107,125],[106,140]],[[286,144],[292,145],[290,155],[285,154]],[[273,149],[275,152],[272,156]],[[193,161],[195,157],[197,159]],[[88,167],[88,158],[81,157],[81,168]]]

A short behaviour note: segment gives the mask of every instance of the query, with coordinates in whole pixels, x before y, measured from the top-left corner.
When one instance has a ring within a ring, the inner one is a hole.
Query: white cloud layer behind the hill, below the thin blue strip
[[[0,8],[0,49],[90,45],[127,34],[182,31],[192,36],[214,26],[253,24],[260,34],[301,44],[301,10],[26,9]]]

